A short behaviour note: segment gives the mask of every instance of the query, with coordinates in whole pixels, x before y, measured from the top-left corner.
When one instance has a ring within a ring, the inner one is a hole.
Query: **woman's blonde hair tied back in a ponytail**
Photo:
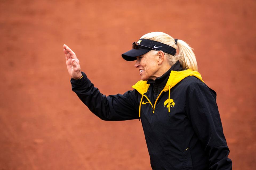
[[[160,43],[172,46],[179,53],[176,53],[175,56],[165,53],[168,63],[170,65],[174,65],[174,63],[179,60],[183,69],[197,71],[197,60],[195,59],[193,48],[191,48],[184,41],[178,40],[177,44],[175,44],[174,38],[163,32],[150,32],[143,35],[141,38],[158,41]]]

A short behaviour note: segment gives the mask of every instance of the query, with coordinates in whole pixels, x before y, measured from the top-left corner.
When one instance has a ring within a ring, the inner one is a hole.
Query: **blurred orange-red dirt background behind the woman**
[[[217,92],[234,169],[255,163],[255,1],[1,1],[0,169],[150,169],[141,122],[107,122],[71,91],[62,46],[103,94],[140,80],[121,54],[163,31]],[[171,133],[171,132],[170,132]]]

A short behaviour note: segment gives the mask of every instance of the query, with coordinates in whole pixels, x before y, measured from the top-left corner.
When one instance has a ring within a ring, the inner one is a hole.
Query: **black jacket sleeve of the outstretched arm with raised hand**
[[[102,120],[119,121],[139,118],[138,92],[105,96],[82,72],[79,80],[71,79],[72,90],[79,99]]]

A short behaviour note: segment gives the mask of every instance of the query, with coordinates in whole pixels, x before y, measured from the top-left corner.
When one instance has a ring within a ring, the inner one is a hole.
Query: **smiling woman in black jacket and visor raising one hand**
[[[137,60],[134,90],[105,96],[64,45],[72,90],[102,120],[141,120],[152,169],[232,169],[216,93],[197,72],[188,44],[163,32],[143,35],[122,54]]]

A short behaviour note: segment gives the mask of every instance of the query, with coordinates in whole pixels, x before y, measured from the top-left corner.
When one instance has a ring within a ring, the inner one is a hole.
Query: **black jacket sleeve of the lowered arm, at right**
[[[186,112],[209,154],[209,169],[232,169],[232,161],[227,157],[229,148],[223,134],[215,91],[204,83],[195,84],[189,92]]]

